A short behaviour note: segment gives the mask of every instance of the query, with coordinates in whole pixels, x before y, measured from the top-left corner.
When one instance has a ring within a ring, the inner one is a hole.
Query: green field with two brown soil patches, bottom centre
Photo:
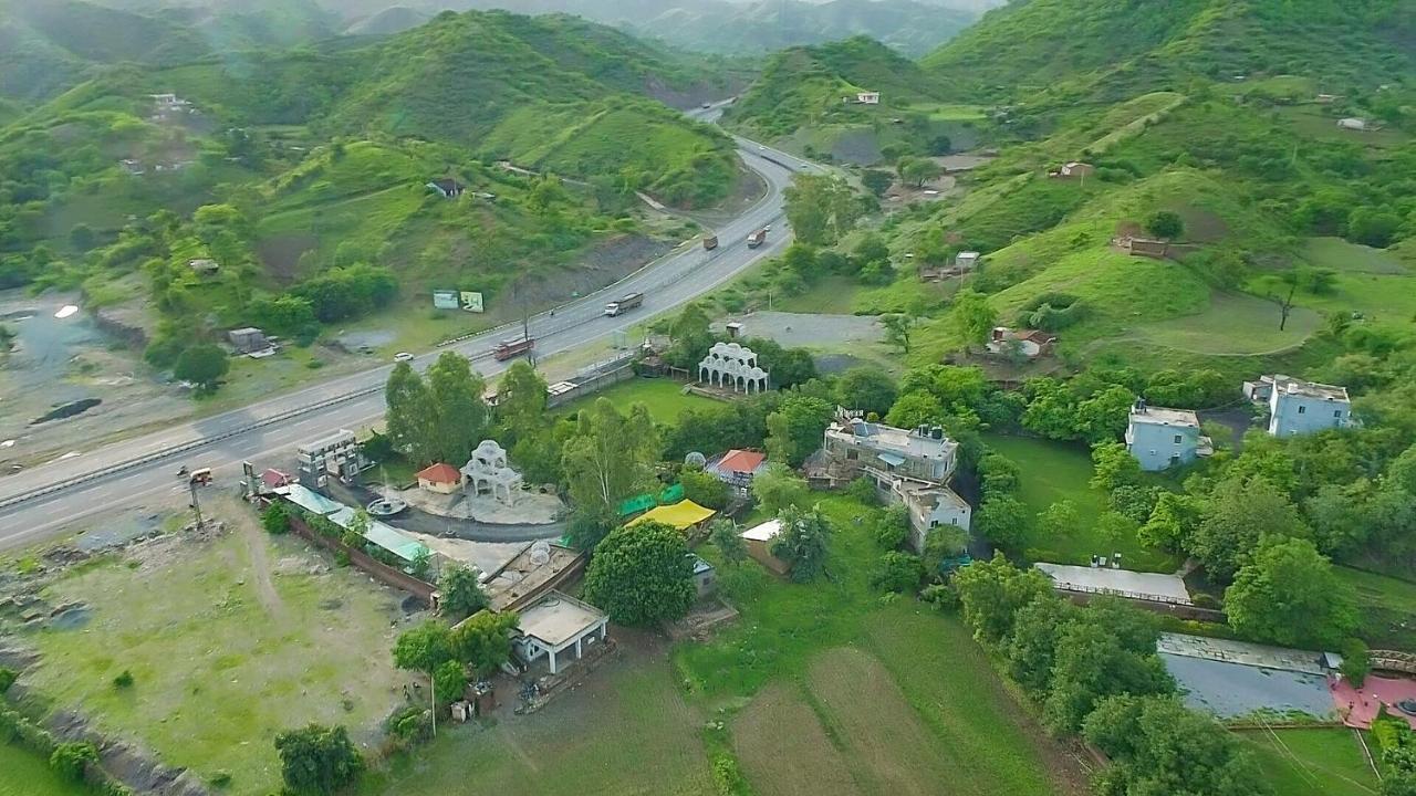
[[[792,585],[749,562],[722,578],[736,625],[674,650],[694,694],[735,714],[735,755],[755,792],[1072,792],[1075,768],[956,618],[877,599],[879,551],[855,523],[867,508],[838,496],[821,507],[835,530],[830,578]]]

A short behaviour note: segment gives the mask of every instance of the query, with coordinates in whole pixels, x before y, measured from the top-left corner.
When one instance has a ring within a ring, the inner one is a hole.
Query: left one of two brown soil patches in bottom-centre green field
[[[811,705],[787,686],[769,686],[732,725],[733,751],[762,796],[861,793]]]

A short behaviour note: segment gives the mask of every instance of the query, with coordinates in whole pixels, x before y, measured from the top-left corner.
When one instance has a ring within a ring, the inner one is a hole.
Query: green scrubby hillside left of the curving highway
[[[170,14],[171,45],[207,41],[171,20],[208,13]],[[127,307],[159,365],[221,329],[310,340],[433,288],[569,296],[622,266],[571,273],[581,258],[654,249],[636,191],[702,207],[741,177],[722,132],[654,99],[721,91],[698,61],[571,17],[446,13],[371,42],[212,55],[64,33],[88,79],[0,103],[0,288]]]

